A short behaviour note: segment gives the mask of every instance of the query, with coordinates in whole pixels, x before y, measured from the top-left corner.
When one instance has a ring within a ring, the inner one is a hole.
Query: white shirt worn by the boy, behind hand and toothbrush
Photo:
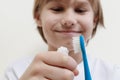
[[[19,80],[34,57],[27,57],[12,64],[5,73],[5,80]],[[92,80],[120,80],[120,67],[101,59],[87,57]],[[83,62],[78,64],[79,75],[74,80],[85,80]]]

